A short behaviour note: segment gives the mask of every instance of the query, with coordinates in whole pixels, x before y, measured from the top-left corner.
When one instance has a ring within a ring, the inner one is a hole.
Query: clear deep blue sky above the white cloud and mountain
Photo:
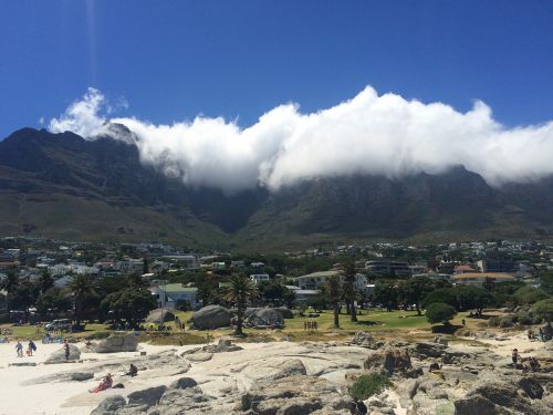
[[[13,1],[0,3],[0,137],[93,86],[115,115],[253,124],[365,85],[509,125],[553,120],[553,1]]]

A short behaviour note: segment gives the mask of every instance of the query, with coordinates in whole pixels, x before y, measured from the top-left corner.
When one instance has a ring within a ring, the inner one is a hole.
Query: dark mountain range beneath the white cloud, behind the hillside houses
[[[226,196],[143,164],[132,141],[22,128],[0,142],[0,235],[244,250],[553,239],[553,177],[498,188],[460,164],[439,175],[316,178]]]

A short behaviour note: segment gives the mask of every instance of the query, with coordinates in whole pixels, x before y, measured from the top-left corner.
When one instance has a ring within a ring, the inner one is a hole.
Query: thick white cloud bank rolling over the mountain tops
[[[442,103],[378,95],[367,86],[316,113],[280,105],[247,128],[222,117],[156,125],[109,113],[105,96],[88,89],[49,129],[94,139],[113,135],[109,122],[123,124],[134,133],[143,163],[187,185],[227,194],[327,176],[437,174],[457,165],[493,186],[553,174],[553,122],[508,128],[480,101],[460,113]]]

